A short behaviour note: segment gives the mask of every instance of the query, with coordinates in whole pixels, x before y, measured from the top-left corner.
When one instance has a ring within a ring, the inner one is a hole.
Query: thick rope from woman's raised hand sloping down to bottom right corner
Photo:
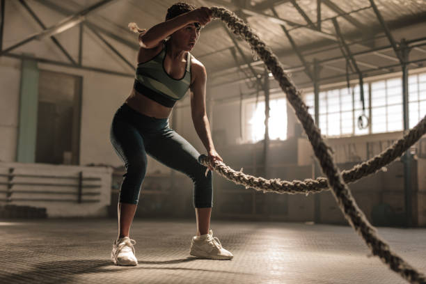
[[[388,244],[381,240],[377,235],[376,229],[368,222],[363,212],[356,205],[349,188],[343,182],[340,171],[333,161],[329,146],[324,143],[319,129],[315,126],[313,118],[307,111],[308,108],[301,100],[300,91],[292,84],[288,74],[284,72],[278,58],[271,52],[269,47],[266,47],[265,42],[262,42],[237,15],[226,8],[212,7],[211,9],[213,17],[220,18],[233,33],[242,37],[251,45],[253,52],[265,62],[269,71],[272,72],[274,78],[287,94],[287,100],[294,108],[297,118],[299,118],[308,135],[315,156],[319,159],[319,164],[327,177],[329,186],[333,189],[332,193],[338,202],[340,210],[342,210],[349,224],[364,239],[372,254],[379,256],[382,262],[386,263],[390,269],[400,274],[407,281],[411,283],[426,283],[426,278],[423,274],[420,274],[415,268],[402,260],[400,256],[390,251]]]

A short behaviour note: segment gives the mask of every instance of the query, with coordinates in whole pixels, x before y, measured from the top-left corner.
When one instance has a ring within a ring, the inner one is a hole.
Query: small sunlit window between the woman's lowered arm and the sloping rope
[[[265,101],[249,100],[243,104],[244,142],[265,139]],[[287,102],[284,97],[269,100],[269,139],[287,139]]]

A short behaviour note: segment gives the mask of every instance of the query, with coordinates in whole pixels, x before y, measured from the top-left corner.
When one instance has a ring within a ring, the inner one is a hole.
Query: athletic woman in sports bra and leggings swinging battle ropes
[[[146,154],[185,173],[194,182],[197,231],[191,240],[190,254],[220,260],[233,257],[210,230],[212,172],[206,174],[207,168],[198,163],[197,150],[168,127],[173,105],[190,88],[196,132],[210,161],[222,161],[214,149],[205,111],[205,68],[189,53],[200,36],[201,26],[211,19],[209,8],[196,9],[187,3],[175,3],[168,8],[166,21],[148,31],[129,24],[132,30],[139,32],[138,68],[134,88],[111,125],[111,143],[126,168],[118,202],[118,239],[111,252],[116,265],[138,263],[133,246],[136,242],[129,239],[129,229],[145,178]]]

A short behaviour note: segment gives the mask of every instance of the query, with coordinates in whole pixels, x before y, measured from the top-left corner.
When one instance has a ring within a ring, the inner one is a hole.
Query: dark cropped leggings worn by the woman
[[[205,175],[207,167],[198,162],[200,153],[169,128],[168,118],[145,116],[123,104],[113,117],[110,139],[126,169],[120,187],[120,203],[138,204],[148,154],[191,178],[194,207],[212,207],[212,172]]]

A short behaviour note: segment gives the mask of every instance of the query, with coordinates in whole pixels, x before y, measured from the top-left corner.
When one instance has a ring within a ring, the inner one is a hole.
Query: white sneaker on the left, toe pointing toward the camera
[[[120,237],[113,243],[111,260],[114,265],[134,266],[138,264],[138,260],[134,256],[134,244],[136,244],[135,240],[129,239],[129,237]]]

